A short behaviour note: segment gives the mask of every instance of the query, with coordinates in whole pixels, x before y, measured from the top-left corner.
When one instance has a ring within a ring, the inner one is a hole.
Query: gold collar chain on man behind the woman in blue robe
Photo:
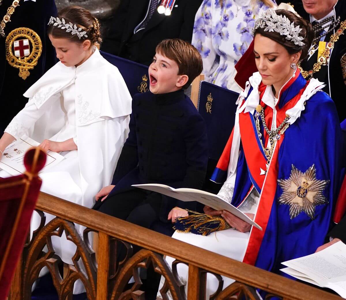
[[[309,77],[312,77],[313,73],[316,73],[320,71],[322,66],[326,66],[329,63],[329,57],[331,50],[334,48],[334,44],[338,41],[339,36],[344,34],[344,30],[346,29],[346,20],[340,23],[340,28],[330,37],[329,42],[326,45],[326,49],[322,52],[322,54],[317,58],[317,63],[313,65],[312,70],[310,71],[304,71],[300,64],[298,65],[298,68],[300,70],[300,73],[302,76],[306,79],[310,79]]]

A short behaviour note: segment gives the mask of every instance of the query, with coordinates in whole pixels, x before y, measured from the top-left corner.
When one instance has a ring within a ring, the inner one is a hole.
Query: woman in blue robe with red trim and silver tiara
[[[311,45],[311,25],[292,12],[268,9],[253,32],[258,72],[239,96],[235,126],[212,180],[223,183],[219,196],[262,231],[205,207],[231,228],[207,236],[175,232],[173,238],[289,276],[280,271],[281,262],[314,253],[333,221],[344,165],[342,133],[324,84],[307,82],[297,68]],[[188,284],[187,267],[178,264],[177,272]],[[232,282],[224,278],[224,288]],[[217,287],[210,274],[207,296]]]

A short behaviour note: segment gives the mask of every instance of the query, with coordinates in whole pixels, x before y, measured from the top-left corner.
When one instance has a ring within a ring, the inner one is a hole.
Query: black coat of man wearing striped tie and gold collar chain
[[[293,1],[276,1],[290,2],[294,5],[294,9],[299,15],[308,21],[310,21],[310,15],[304,10],[301,0]],[[340,22],[346,20],[346,1],[339,0],[335,6],[336,17],[340,16]],[[336,27],[335,31],[339,29],[340,25]],[[331,32],[334,34],[334,31]],[[331,34],[327,35],[325,41],[329,41]],[[344,34],[339,37],[339,40],[334,44],[334,49],[330,55],[329,68],[328,66],[322,66],[321,70],[313,75],[321,82],[325,82],[327,87],[324,91],[330,95],[331,99],[335,102],[336,109],[338,111],[340,122],[346,119],[345,95],[346,95],[346,65],[342,67],[341,60],[344,59],[346,64],[346,30]],[[312,56],[309,61],[304,59],[301,63],[302,68],[305,71],[312,69],[314,63],[317,62],[318,51],[315,52],[315,57]],[[330,85],[330,88],[329,88]]]

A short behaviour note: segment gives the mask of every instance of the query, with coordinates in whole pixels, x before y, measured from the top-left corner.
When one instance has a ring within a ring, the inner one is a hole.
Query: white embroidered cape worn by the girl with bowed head
[[[81,200],[66,199],[92,206],[92,199],[103,186],[109,185],[122,146],[128,136],[131,96],[117,67],[104,59],[96,47],[78,67],[61,62],[43,75],[24,96],[29,101],[6,128],[16,139],[28,135],[38,142],[53,137],[66,123],[60,98],[64,90],[75,85],[75,124],[81,177]],[[33,103],[40,117],[30,124],[27,106]],[[48,105],[49,104],[49,105]],[[48,108],[47,108],[48,107]],[[31,125],[31,126],[29,126]],[[55,196],[59,196],[57,194]]]

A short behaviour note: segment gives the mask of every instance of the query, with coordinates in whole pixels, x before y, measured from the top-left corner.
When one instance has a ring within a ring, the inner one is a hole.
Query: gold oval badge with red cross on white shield
[[[42,54],[42,41],[39,35],[29,28],[20,27],[12,30],[6,38],[6,59],[19,69],[19,77],[26,79],[37,65]]]

